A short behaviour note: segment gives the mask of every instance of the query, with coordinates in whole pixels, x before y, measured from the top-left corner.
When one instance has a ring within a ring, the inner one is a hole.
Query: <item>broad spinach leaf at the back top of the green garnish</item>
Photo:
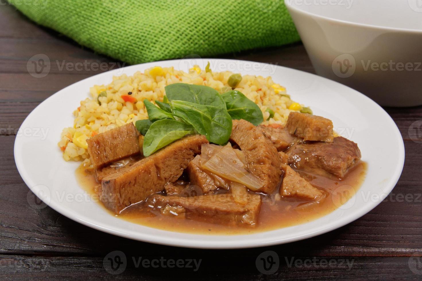
[[[226,109],[221,95],[207,86],[175,83],[165,86],[165,94],[170,102],[185,101]]]

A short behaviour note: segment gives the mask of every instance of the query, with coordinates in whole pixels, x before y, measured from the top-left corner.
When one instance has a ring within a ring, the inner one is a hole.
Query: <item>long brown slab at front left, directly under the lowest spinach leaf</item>
[[[119,213],[152,193],[164,190],[167,182],[175,182],[181,176],[189,161],[200,153],[203,143],[208,143],[205,136],[186,136],[132,166],[104,177],[101,182],[104,205]]]

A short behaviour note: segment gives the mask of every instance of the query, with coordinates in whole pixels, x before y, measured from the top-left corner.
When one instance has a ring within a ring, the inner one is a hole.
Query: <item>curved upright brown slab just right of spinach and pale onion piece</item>
[[[271,140],[262,131],[245,120],[233,120],[230,139],[245,153],[252,174],[264,185],[260,191],[272,193],[281,180],[281,158]]]

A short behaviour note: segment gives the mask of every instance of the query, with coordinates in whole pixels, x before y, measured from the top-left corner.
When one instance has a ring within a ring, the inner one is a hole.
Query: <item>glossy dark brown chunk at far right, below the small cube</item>
[[[289,155],[289,163],[298,169],[323,176],[327,172],[340,178],[361,157],[357,144],[342,136],[335,137],[333,142],[297,143],[286,153]]]

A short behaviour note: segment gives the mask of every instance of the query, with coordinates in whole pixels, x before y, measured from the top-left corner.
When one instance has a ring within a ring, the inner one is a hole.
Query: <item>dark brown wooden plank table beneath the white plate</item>
[[[49,75],[34,78],[27,72],[27,61],[36,54],[46,54],[60,63],[63,60],[72,64],[115,62],[56,32],[38,27],[11,6],[0,5],[0,276],[3,280],[421,280],[422,264],[417,262],[422,255],[422,149],[409,138],[408,128],[422,119],[422,107],[386,108],[405,140],[403,174],[391,196],[349,225],[315,238],[267,248],[198,250],[160,246],[112,236],[73,222],[49,207],[34,209],[29,205],[28,187],[16,170],[13,156],[17,129],[31,110],[51,94],[101,72],[60,70],[52,64]],[[301,44],[224,57],[278,63],[314,72]],[[374,149],[378,141],[382,139],[372,140]],[[412,199],[400,199],[406,195]],[[115,250],[127,257],[127,268],[119,275],[109,274],[103,266],[106,255]],[[275,273],[267,275],[257,269],[255,261],[269,250],[278,254],[280,265]],[[142,265],[136,268],[132,257],[136,262],[139,257],[201,259],[202,262],[197,271]],[[347,262],[353,262],[350,268]]]

